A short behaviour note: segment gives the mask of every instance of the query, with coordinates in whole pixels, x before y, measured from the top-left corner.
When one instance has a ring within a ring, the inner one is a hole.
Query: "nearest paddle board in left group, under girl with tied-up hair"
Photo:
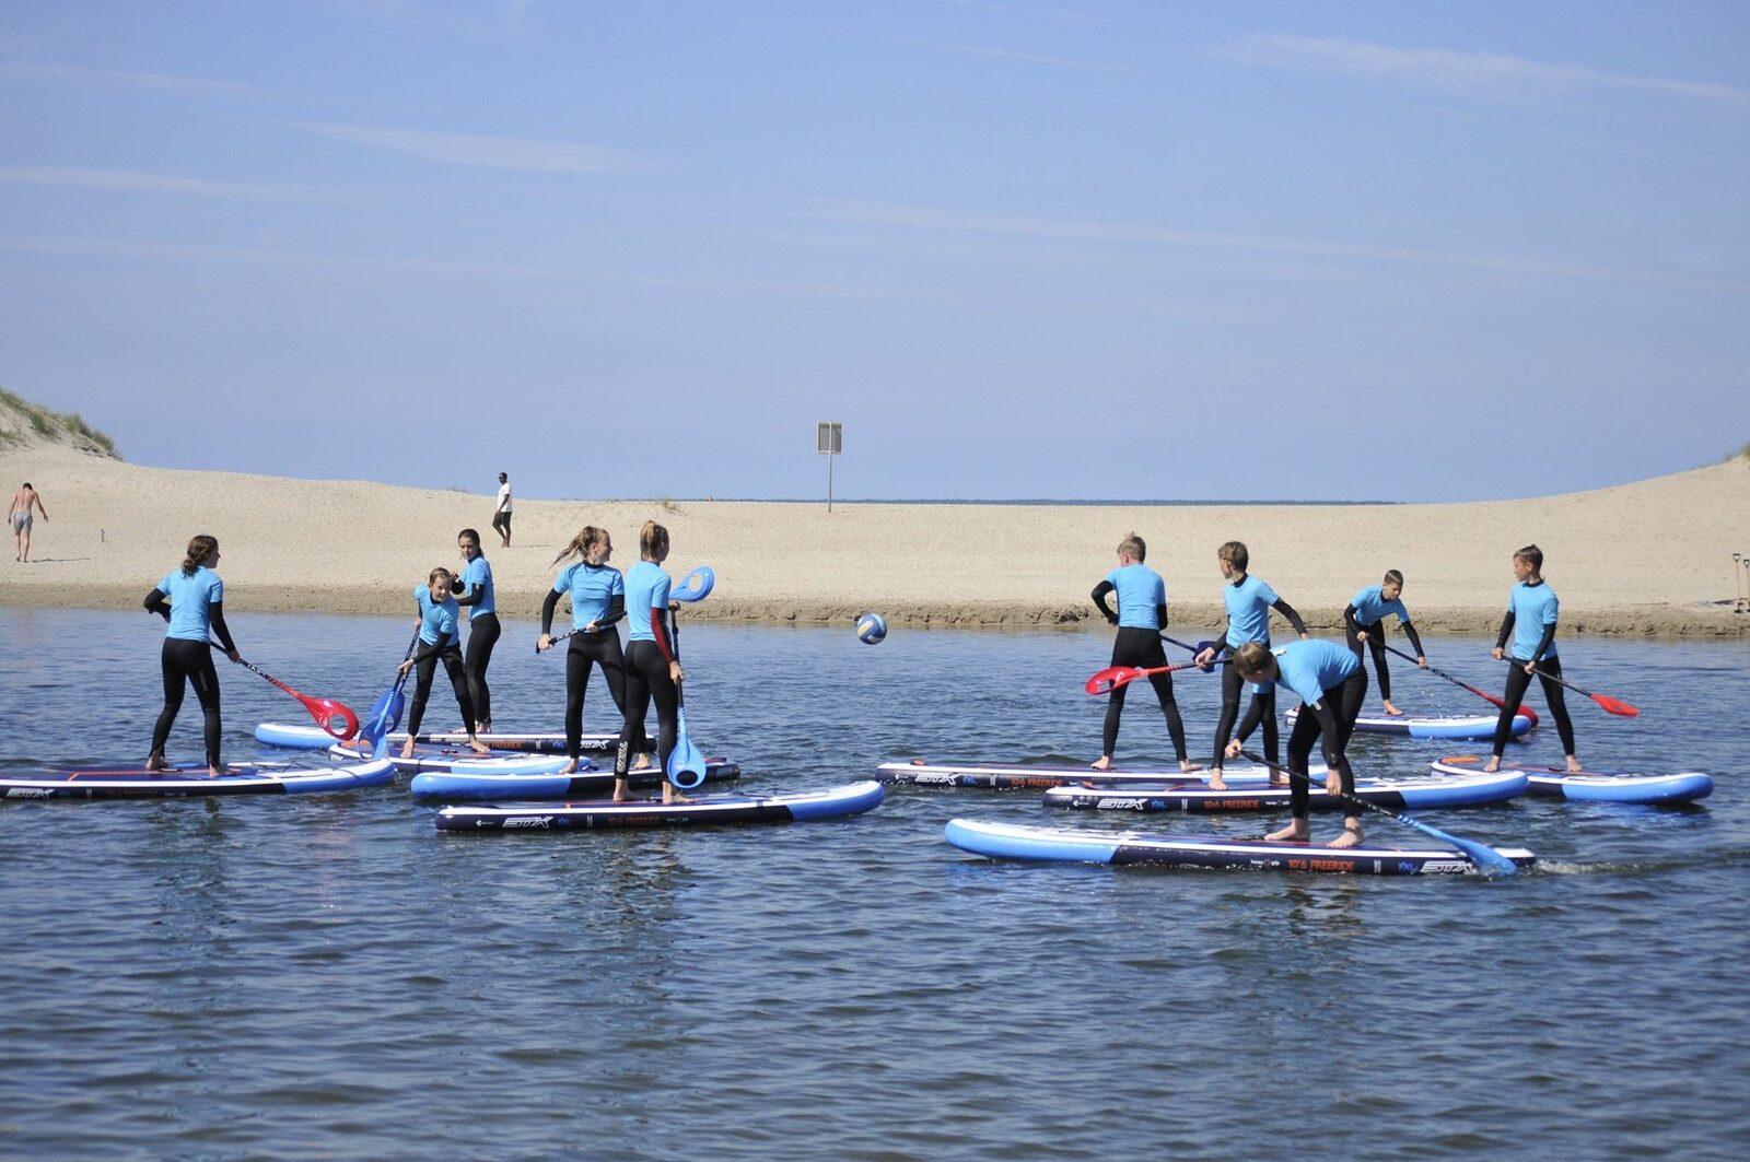
[[[858,816],[882,800],[873,779],[802,794],[704,794],[688,803],[555,803],[551,807],[444,807],[439,831],[500,835],[506,831],[569,831],[600,828],[691,828],[724,822],[808,822]]]

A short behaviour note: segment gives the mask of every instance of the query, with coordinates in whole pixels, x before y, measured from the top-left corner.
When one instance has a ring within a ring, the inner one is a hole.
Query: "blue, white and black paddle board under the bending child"
[[[1321,847],[1262,838],[1169,838],[1164,835],[1064,831],[1010,822],[950,819],[943,838],[961,850],[992,859],[1036,863],[1164,864],[1172,868],[1239,868],[1267,872],[1346,872],[1360,875],[1461,875],[1477,864],[1442,847]],[[1517,866],[1536,858],[1522,847],[1498,849]]]

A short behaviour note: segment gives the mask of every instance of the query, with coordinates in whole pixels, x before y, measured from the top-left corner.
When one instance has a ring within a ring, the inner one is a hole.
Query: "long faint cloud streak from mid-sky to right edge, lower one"
[[[987,234],[1015,234],[1026,238],[1060,238],[1096,243],[1134,243],[1158,247],[1199,247],[1214,250],[1253,250],[1264,254],[1290,254],[1349,261],[1416,262],[1484,270],[1505,275],[1538,275],[1549,278],[1582,278],[1601,282],[1638,282],[1654,285],[1680,285],[1708,290],[1750,294],[1750,282],[1710,278],[1685,271],[1626,270],[1578,262],[1554,262],[1536,257],[1507,254],[1472,254],[1463,250],[1424,250],[1416,247],[1377,247],[1316,238],[1283,238],[1272,234],[1230,234],[1214,231],[1174,229],[1129,222],[1080,222],[1073,219],[1040,219],[1008,214],[976,214],[945,206],[917,206],[891,201],[854,201],[821,198],[810,203],[807,217],[859,226],[886,226],[901,229],[971,231]]]

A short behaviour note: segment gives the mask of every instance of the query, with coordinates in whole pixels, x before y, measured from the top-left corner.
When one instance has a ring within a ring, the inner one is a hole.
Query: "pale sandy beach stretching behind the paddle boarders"
[[[1222,620],[1214,550],[1251,548],[1253,572],[1332,628],[1349,597],[1402,569],[1424,630],[1493,632],[1508,558],[1536,542],[1575,634],[1741,635],[1732,553],[1750,553],[1750,460],[1510,502],[1400,506],[992,506],[518,499],[499,548],[485,494],[138,467],[60,444],[0,448],[0,481],[30,480],[32,562],[7,562],[0,604],[133,609],[182,560],[189,536],[224,548],[226,607],[413,612],[411,588],[453,565],[455,534],[483,532],[499,607],[539,616],[553,556],[586,523],[637,560],[644,520],[668,525],[670,572],[718,572],[695,618],[1022,626],[1097,620],[1088,590],[1127,532],[1150,546],[1185,634]]]

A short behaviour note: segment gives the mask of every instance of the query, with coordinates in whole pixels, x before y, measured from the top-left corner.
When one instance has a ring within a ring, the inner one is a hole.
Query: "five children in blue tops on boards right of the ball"
[[[1162,640],[1167,640],[1167,588],[1160,574],[1144,565],[1148,546],[1136,534],[1118,542],[1118,567],[1094,586],[1094,604],[1106,620],[1118,626],[1118,637],[1111,646],[1111,665],[1155,668],[1148,681],[1160,700],[1160,710],[1167,718],[1167,737],[1178,756],[1180,770],[1202,770],[1190,760],[1185,749],[1185,721],[1180,718],[1178,700],[1172,696],[1172,674],[1167,672],[1167,656]],[[1354,847],[1362,842],[1360,800],[1354,794],[1354,772],[1349,768],[1346,747],[1354,730],[1354,719],[1362,712],[1362,700],[1367,696],[1367,670],[1362,665],[1362,648],[1374,656],[1374,668],[1379,674],[1379,693],[1384,700],[1386,714],[1400,716],[1402,710],[1391,702],[1391,674],[1386,667],[1384,618],[1396,614],[1404,635],[1416,651],[1416,665],[1428,665],[1416,626],[1404,607],[1404,574],[1396,569],[1386,570],[1379,584],[1362,588],[1342,611],[1346,644],[1316,640],[1307,632],[1306,621],[1295,607],[1278,597],[1262,578],[1250,572],[1250,553],[1239,541],[1228,541],[1216,550],[1216,564],[1227,584],[1222,586],[1222,602],[1227,609],[1227,628],[1218,642],[1206,644],[1195,654],[1199,667],[1220,663],[1222,670],[1222,714],[1214,730],[1214,758],[1211,761],[1209,786],[1223,789],[1223,760],[1239,758],[1244,738],[1256,726],[1264,726],[1264,751],[1270,766],[1272,784],[1290,784],[1292,821],[1279,831],[1272,831],[1272,840],[1307,840],[1309,780],[1307,760],[1312,756],[1312,742],[1318,740],[1325,752],[1328,775],[1325,789],[1328,794],[1346,794],[1342,835],[1332,847]],[[1556,718],[1556,730],[1561,733],[1561,747],[1568,756],[1568,770],[1580,770],[1575,758],[1573,723],[1568,719],[1568,705],[1563,698],[1561,662],[1556,656],[1556,620],[1559,604],[1556,592],[1544,581],[1544,553],[1535,544],[1528,544],[1514,553],[1514,578],[1517,584],[1507,602],[1507,618],[1494,644],[1494,658],[1508,656],[1508,635],[1512,635],[1510,654],[1514,665],[1507,672],[1507,691],[1502,696],[1502,714],[1494,724],[1494,754],[1486,770],[1500,770],[1507,738],[1512,733],[1514,716],[1524,700],[1531,677],[1538,676],[1550,714]],[[1118,607],[1113,609],[1106,598],[1118,595]],[[1279,649],[1270,648],[1270,611],[1283,614],[1298,634]],[[1222,658],[1222,654],[1227,658]],[[1220,660],[1220,662],[1218,662]],[[1251,705],[1244,719],[1239,721],[1237,735],[1234,721],[1239,716],[1241,684],[1250,682],[1253,690]],[[1300,696],[1302,709],[1295,716],[1293,730],[1288,735],[1288,763],[1281,765],[1281,751],[1276,735],[1276,684],[1281,682]],[[1106,728],[1101,756],[1094,761],[1094,770],[1111,766],[1113,749],[1118,744],[1118,719],[1124,714],[1124,696],[1127,684],[1113,688],[1106,705]]]

